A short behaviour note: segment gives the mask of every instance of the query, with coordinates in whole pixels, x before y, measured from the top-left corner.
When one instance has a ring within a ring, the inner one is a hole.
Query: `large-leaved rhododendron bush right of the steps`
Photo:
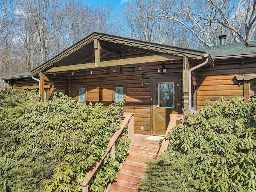
[[[167,137],[170,160],[196,156],[190,171],[197,190],[256,191],[256,98],[221,98],[185,116]]]

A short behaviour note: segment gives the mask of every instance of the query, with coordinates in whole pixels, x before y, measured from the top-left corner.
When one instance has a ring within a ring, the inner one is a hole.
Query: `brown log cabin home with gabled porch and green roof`
[[[1,78],[17,90],[39,88],[81,102],[120,99],[134,113],[134,133],[164,135],[170,114],[200,109],[205,100],[238,95],[248,102],[256,90],[256,43],[196,50],[92,33],[31,72]]]

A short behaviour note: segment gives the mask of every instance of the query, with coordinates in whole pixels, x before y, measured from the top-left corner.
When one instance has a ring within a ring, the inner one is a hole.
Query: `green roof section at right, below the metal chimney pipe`
[[[205,51],[207,53],[210,53],[210,55],[214,57],[256,53],[256,46],[247,47],[246,42],[242,42],[228,45],[219,45],[214,47],[203,47],[194,50]]]

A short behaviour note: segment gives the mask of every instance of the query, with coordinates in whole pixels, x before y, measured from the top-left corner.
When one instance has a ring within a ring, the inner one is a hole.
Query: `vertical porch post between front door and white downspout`
[[[188,58],[183,58],[183,102],[184,102],[184,112],[188,112]]]

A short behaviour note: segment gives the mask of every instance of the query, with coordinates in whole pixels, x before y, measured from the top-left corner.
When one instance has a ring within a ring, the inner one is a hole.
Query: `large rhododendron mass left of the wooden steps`
[[[81,191],[84,176],[104,155],[108,141],[120,127],[122,103],[115,105],[103,110],[103,104],[86,105],[55,94],[48,102],[29,106],[16,120],[3,120],[8,138],[1,141],[0,190],[16,191],[30,179],[35,188],[27,187],[26,191]],[[129,142],[126,129],[116,142],[116,159],[108,156],[91,180],[92,191],[104,191],[115,179]],[[23,171],[29,178],[18,185]],[[38,171],[44,177],[40,186],[34,185],[42,179],[34,177]]]

